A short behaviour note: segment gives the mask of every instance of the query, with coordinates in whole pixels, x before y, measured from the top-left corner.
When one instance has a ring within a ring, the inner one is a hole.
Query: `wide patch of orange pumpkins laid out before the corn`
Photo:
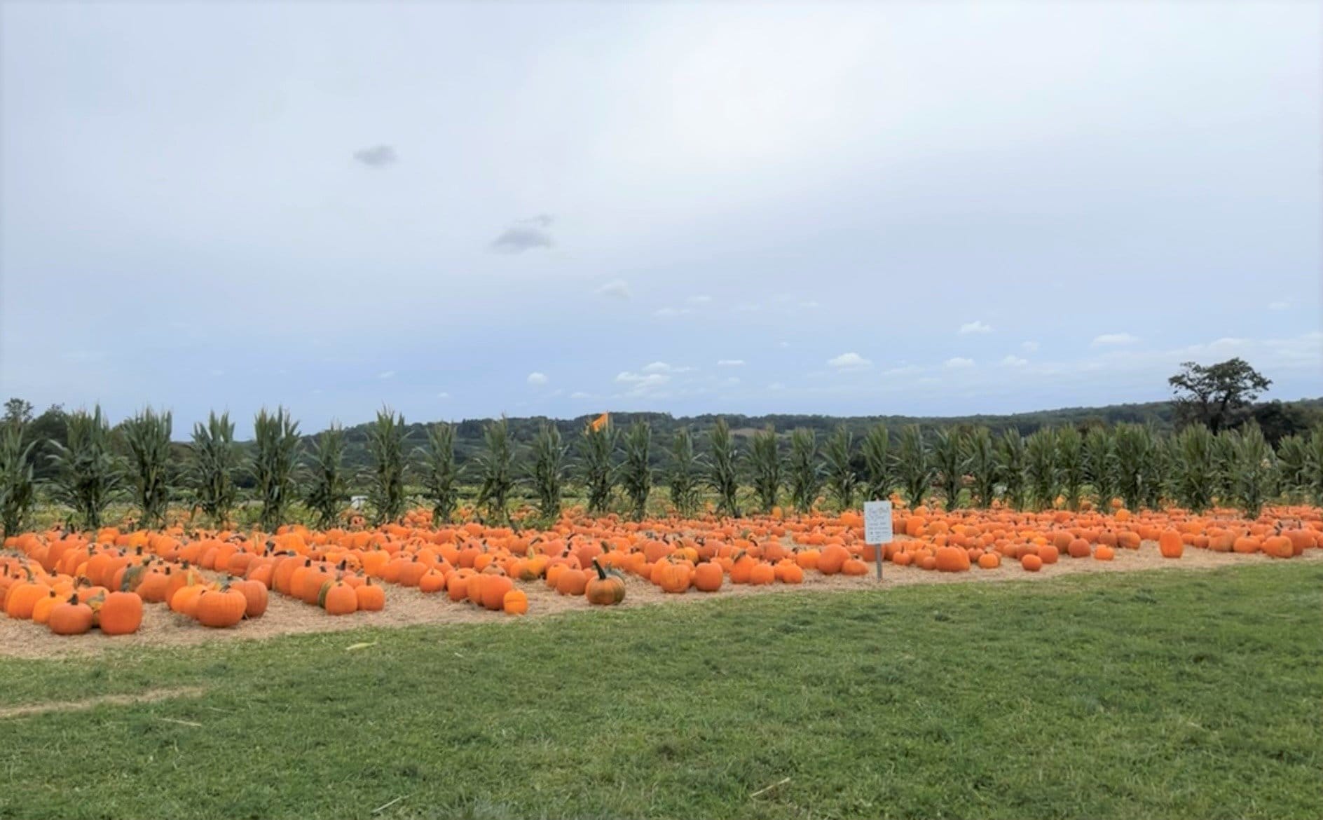
[[[1230,512],[1179,509],[1131,514],[927,508],[897,511],[901,538],[882,548],[896,566],[935,571],[998,569],[1003,561],[1037,571],[1061,555],[1113,561],[1118,549],[1156,541],[1160,554],[1187,548],[1289,558],[1320,545],[1318,508],[1271,508],[1256,521]],[[546,530],[516,532],[471,522],[434,528],[277,533],[160,532],[24,533],[4,541],[22,553],[0,558],[0,606],[60,635],[139,628],[143,604],[163,603],[208,627],[259,618],[271,591],[329,615],[380,611],[382,585],[445,593],[492,611],[524,614],[517,582],[541,581],[561,595],[610,606],[624,599],[627,575],[665,593],[716,593],[729,583],[795,585],[806,573],[865,575],[876,549],[863,544],[863,518],[778,516],[623,521],[566,516]],[[220,573],[212,581],[198,569]]]

